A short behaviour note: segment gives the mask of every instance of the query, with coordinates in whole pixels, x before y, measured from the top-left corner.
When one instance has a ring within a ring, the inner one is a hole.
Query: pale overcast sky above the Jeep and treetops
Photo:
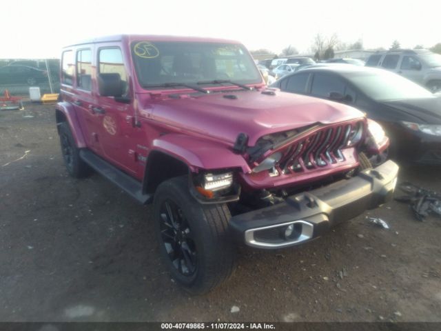
[[[365,48],[441,42],[440,0],[169,1],[9,0],[1,4],[0,58],[59,57],[106,34],[175,34],[242,41],[249,50],[311,48],[315,34],[362,39]]]

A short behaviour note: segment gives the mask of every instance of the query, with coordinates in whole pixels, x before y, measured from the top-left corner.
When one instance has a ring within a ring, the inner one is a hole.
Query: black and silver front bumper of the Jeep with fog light
[[[387,161],[356,177],[288,197],[285,202],[232,217],[230,228],[240,242],[264,249],[298,245],[320,237],[333,225],[392,198],[398,165]],[[288,231],[287,227],[292,225]]]

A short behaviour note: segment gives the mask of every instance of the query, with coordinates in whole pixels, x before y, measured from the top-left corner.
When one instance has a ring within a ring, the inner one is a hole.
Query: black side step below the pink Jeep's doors
[[[130,194],[130,196],[134,197],[134,199],[140,203],[145,204],[152,202],[152,194],[143,193],[142,183],[130,177],[128,174],[125,174],[125,172],[122,172],[118,168],[115,168],[107,161],[101,159],[101,157],[94,154],[94,152],[82,149],[80,150],[80,157],[96,172],[112,181],[112,183],[116,184],[121,190],[127,192],[127,194]]]

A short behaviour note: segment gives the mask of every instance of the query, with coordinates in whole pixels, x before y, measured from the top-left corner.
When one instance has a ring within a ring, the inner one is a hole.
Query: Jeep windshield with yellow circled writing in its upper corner
[[[238,44],[135,41],[132,57],[139,83],[144,88],[216,80],[241,84],[262,81],[247,50]]]

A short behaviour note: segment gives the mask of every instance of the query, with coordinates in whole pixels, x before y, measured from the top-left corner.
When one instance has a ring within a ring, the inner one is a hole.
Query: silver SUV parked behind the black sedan
[[[391,70],[432,92],[441,90],[441,55],[429,50],[389,50],[376,52],[366,66]]]

